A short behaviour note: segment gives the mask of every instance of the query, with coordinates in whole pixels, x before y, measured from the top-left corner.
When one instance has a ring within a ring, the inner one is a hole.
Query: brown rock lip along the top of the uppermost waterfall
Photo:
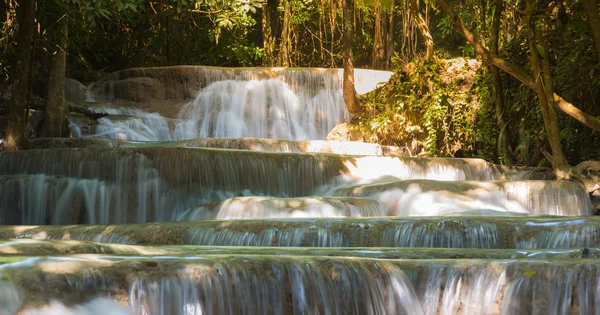
[[[223,80],[264,80],[280,78],[311,95],[325,88],[340,87],[342,69],[324,68],[226,68],[172,66],[133,68],[117,71],[96,82],[92,91],[98,100],[124,99],[132,102],[185,100],[211,83]],[[355,69],[356,90],[364,94],[386,82],[389,71]],[[161,108],[156,108],[160,110]],[[164,109],[163,109],[164,110]]]

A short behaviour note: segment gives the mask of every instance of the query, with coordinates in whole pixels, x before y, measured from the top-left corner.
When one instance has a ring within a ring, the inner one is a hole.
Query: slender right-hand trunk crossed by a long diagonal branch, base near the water
[[[558,179],[570,179],[572,170],[562,151],[560,143],[560,126],[558,124],[556,110],[554,109],[554,92],[552,91],[550,61],[547,53],[548,47],[544,35],[537,29],[537,23],[532,16],[532,12],[535,10],[533,1],[534,0],[528,0],[527,2],[529,12],[527,18],[527,22],[529,23],[527,35],[529,40],[529,52],[531,54],[531,65],[535,77],[535,92],[538,96],[542,116],[544,118],[544,126],[546,128],[546,133],[548,133],[548,141],[550,142],[550,148],[552,150],[552,154],[545,153],[545,155],[552,164],[552,168],[554,168]],[[540,52],[540,49],[543,49],[543,52]]]

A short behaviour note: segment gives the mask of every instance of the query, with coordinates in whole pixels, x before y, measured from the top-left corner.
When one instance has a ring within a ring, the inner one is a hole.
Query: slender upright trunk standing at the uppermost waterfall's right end
[[[354,63],[352,60],[352,41],[354,40],[354,0],[343,0],[343,43],[344,43],[344,101],[353,115],[361,112],[356,90],[354,89]]]

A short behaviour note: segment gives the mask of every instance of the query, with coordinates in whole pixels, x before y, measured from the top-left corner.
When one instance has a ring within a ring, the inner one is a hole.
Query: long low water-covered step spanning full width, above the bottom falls
[[[600,218],[412,217],[0,226],[0,239],[214,246],[589,248]]]

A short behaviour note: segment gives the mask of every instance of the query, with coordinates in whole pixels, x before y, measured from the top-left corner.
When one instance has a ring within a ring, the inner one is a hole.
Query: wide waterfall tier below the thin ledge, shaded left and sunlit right
[[[390,175],[448,180],[502,176],[482,160],[435,159],[423,163],[403,157],[282,155],[152,145],[3,152],[0,223],[118,224],[209,218],[208,214],[192,210],[232,197],[306,197],[339,187],[340,183],[376,182]],[[273,202],[272,208],[283,205]],[[319,210],[304,211],[317,216],[334,215],[337,211],[327,212],[324,205],[321,203]],[[335,208],[341,209],[340,206]],[[381,212],[378,205],[369,207],[377,210],[337,213],[376,216],[389,212]],[[196,215],[191,214],[194,212]],[[17,213],[20,215],[15,217]],[[233,218],[225,214],[224,217]],[[248,218],[248,214],[235,218]]]

